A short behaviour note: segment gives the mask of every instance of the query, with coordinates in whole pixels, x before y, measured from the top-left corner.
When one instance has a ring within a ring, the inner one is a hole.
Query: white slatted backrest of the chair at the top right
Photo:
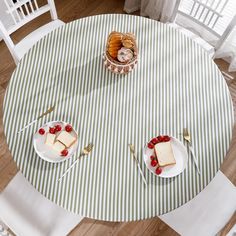
[[[200,25],[208,32],[216,36],[219,40],[215,46],[218,49],[236,24],[236,14],[224,28],[222,34],[217,31],[217,23],[223,18],[223,12],[229,0],[189,0],[188,11],[180,8],[181,0],[176,1],[176,5],[171,17],[175,21],[178,14],[186,17],[190,21]]]

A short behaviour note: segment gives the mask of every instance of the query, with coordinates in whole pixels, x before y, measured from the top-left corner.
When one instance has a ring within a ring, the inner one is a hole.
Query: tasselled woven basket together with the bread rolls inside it
[[[109,34],[104,65],[113,73],[127,74],[138,62],[138,48],[135,36],[131,33],[113,31]]]

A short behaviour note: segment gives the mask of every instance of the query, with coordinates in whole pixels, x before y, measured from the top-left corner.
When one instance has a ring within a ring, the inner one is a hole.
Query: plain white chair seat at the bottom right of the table
[[[236,211],[236,187],[219,171],[191,201],[160,216],[182,236],[214,236]]]

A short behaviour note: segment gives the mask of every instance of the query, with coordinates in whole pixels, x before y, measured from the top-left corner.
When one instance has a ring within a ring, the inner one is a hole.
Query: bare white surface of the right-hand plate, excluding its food
[[[173,149],[176,164],[172,166],[162,167],[162,173],[160,175],[157,175],[155,173],[156,167],[151,166],[150,156],[154,155],[154,149],[149,149],[147,146],[144,148],[144,162],[147,168],[156,176],[163,178],[171,178],[182,173],[187,166],[188,153],[183,143],[174,137],[171,137],[170,142]]]

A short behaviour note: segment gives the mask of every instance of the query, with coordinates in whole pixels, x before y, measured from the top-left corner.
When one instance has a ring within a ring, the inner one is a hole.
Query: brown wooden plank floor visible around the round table
[[[41,0],[43,1],[43,0]],[[58,16],[64,22],[70,22],[81,17],[97,15],[102,13],[124,13],[123,0],[55,0]],[[137,13],[138,14],[138,13]],[[50,20],[49,14],[43,15],[29,25],[13,34],[14,41],[20,40],[31,30],[47,23]],[[222,60],[217,60],[222,71],[227,72],[228,64]],[[3,111],[2,104],[7,84],[11,74],[15,69],[15,64],[6,48],[4,42],[0,42],[0,191],[4,189],[7,183],[14,177],[17,167],[8,150],[3,133]],[[231,73],[236,78],[236,73]],[[236,184],[236,130],[234,131],[234,142],[230,147],[227,158],[224,161],[221,170],[226,176]],[[178,235],[174,230],[168,227],[158,218],[153,218],[138,222],[113,223],[97,221],[85,218],[70,235],[87,236],[106,236],[106,235]]]

